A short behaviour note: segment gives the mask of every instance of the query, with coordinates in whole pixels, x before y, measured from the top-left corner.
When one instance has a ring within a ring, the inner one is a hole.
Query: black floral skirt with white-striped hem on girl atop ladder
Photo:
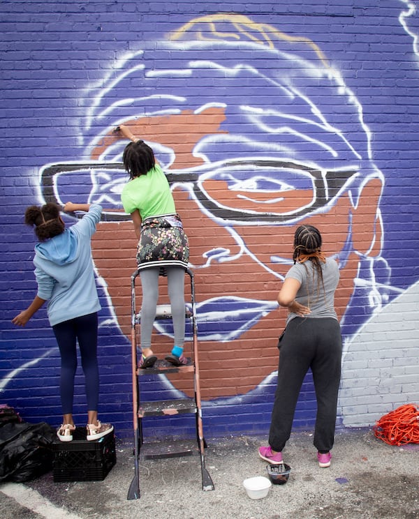
[[[159,267],[165,275],[165,266],[188,268],[189,242],[182,220],[177,214],[153,216],[142,222],[137,247],[138,269]]]

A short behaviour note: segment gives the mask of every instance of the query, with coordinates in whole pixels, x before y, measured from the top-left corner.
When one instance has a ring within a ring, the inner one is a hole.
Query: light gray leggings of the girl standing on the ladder
[[[168,294],[172,309],[175,346],[183,347],[185,340],[185,271],[179,266],[165,266],[168,274]],[[142,286],[141,349],[152,345],[152,331],[159,300],[159,267],[140,271]]]

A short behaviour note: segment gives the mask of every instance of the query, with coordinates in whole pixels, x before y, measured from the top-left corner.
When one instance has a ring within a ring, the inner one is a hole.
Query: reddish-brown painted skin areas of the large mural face
[[[223,133],[224,119],[223,109],[212,108],[200,114],[185,111],[126,124],[134,135],[172,149],[175,160],[168,169],[170,173],[203,163],[193,155],[193,148],[205,135]],[[115,135],[105,137],[91,158],[101,156],[116,139]],[[336,297],[339,316],[353,293],[359,255],[378,255],[381,224],[377,207],[382,184],[376,178],[365,183],[356,206],[344,191],[335,204],[316,216],[302,214],[297,223],[287,223],[284,218],[261,221],[267,214],[266,206],[278,215],[307,206],[313,199],[310,189],[288,188],[280,196],[274,190],[249,193],[249,183],[229,189],[222,176],[203,176],[200,193],[205,192],[205,201],[256,215],[252,223],[229,216],[223,220],[222,212],[221,217],[214,216],[212,206],[208,209],[207,202],[199,200],[191,186],[175,186],[177,212],[189,236],[190,263],[195,273],[203,399],[247,393],[277,368],[277,337],[284,327],[286,310],[277,308],[274,301],[281,279],[292,264],[297,225],[307,223],[321,230],[326,255],[338,255],[351,236],[351,252],[346,253]],[[119,325],[128,338],[136,244],[133,224],[128,221],[101,223],[93,240],[94,262],[108,285]],[[162,280],[160,302],[166,302],[166,298],[166,281]],[[164,356],[171,347],[167,337],[155,334],[152,348],[156,354]],[[188,382],[176,376],[171,380],[189,393]]]

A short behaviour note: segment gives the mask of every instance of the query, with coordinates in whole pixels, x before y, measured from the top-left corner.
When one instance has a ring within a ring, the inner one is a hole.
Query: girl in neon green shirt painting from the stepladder
[[[124,211],[131,214],[138,237],[137,264],[142,286],[140,368],[154,366],[157,357],[151,349],[152,330],[159,300],[159,275],[168,278],[168,294],[173,319],[175,344],[166,361],[182,366],[185,336],[184,275],[189,261],[188,238],[166,175],[153,150],[138,140],[126,126],[117,131],[130,142],[124,150],[124,166],[130,180],[122,190]]]

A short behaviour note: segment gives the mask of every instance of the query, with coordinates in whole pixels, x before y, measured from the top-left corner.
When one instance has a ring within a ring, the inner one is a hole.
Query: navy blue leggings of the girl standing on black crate
[[[61,354],[61,376],[59,390],[63,414],[73,413],[74,377],[77,369],[78,341],[82,369],[84,373],[84,387],[87,397],[87,410],[97,411],[99,398],[99,370],[98,370],[98,315],[92,313],[75,317],[69,321],[60,322],[52,326]]]

